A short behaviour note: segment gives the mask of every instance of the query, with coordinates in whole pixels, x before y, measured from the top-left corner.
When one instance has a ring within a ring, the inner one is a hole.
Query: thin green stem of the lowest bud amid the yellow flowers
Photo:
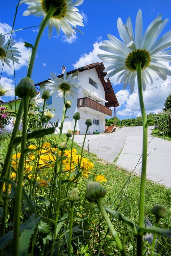
[[[55,230],[53,234],[53,244],[51,250],[51,256],[53,255],[55,239],[56,239],[56,229],[58,225],[58,218],[59,218],[59,209],[61,203],[61,174],[62,174],[62,159],[63,159],[64,150],[61,151],[61,162],[60,162],[60,169],[59,169],[59,184],[58,184],[58,204],[57,204],[57,211],[56,211],[56,219],[55,219]]]

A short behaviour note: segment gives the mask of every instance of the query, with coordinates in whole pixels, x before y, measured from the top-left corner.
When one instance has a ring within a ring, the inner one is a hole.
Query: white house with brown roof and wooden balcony
[[[62,73],[66,68],[62,67]],[[72,101],[72,106],[67,110],[66,115],[68,118],[64,120],[63,132],[67,132],[68,129],[73,130],[74,122],[73,115],[75,112],[80,112],[80,120],[77,122],[76,134],[85,134],[85,121],[88,118],[92,119],[93,125],[89,127],[88,134],[93,132],[104,132],[105,131],[105,118],[112,116],[112,110],[119,106],[116,95],[110,83],[110,80],[105,81],[104,76],[106,75],[103,70],[105,69],[103,63],[93,63],[78,69],[67,72],[67,75],[73,73],[78,78],[78,85],[82,87],[79,91],[79,95]],[[61,77],[59,75],[58,77]],[[39,86],[40,94],[42,95],[45,90],[45,84],[48,80],[42,81],[35,86]],[[54,123],[59,119],[62,119],[63,110],[63,98],[56,97],[56,93],[53,93],[47,101],[47,108],[54,108],[56,116],[51,119]],[[116,115],[116,111],[115,111]],[[60,125],[60,123],[59,123]]]

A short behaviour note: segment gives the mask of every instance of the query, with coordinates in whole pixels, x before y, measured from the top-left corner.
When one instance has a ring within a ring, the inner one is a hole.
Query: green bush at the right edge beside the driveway
[[[158,130],[159,134],[167,136],[171,134],[171,119],[170,112],[163,111],[159,113]]]

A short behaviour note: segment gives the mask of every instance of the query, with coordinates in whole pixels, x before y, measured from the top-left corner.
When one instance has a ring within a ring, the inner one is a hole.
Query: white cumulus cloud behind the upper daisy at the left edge
[[[0,23],[0,33],[3,33],[3,34],[8,33],[11,31],[11,29],[12,29],[12,27],[9,26],[8,24]],[[13,36],[13,34],[12,34],[12,36]],[[7,38],[6,38],[6,41],[7,41]],[[20,54],[21,57],[18,57],[20,64],[14,63],[15,70],[19,70],[23,66],[28,65],[29,49],[24,46],[24,42],[22,39],[19,39],[18,41],[15,40],[15,42],[16,42],[15,47],[17,47],[18,51],[21,52],[21,54]],[[14,74],[13,63],[11,62],[10,65],[11,65],[11,68],[8,67],[6,64],[4,64],[3,72],[6,72],[8,75],[13,75]],[[0,63],[0,70],[2,70],[1,63]]]

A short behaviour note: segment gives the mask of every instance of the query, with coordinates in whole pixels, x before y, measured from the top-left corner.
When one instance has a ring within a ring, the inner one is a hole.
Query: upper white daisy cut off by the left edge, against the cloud
[[[21,57],[20,52],[17,50],[17,47],[13,47],[15,45],[14,39],[10,39],[9,42],[5,43],[5,36],[0,34],[0,60],[2,65],[5,63],[11,68],[10,62],[14,60],[14,62],[19,64],[19,59],[17,57]]]

